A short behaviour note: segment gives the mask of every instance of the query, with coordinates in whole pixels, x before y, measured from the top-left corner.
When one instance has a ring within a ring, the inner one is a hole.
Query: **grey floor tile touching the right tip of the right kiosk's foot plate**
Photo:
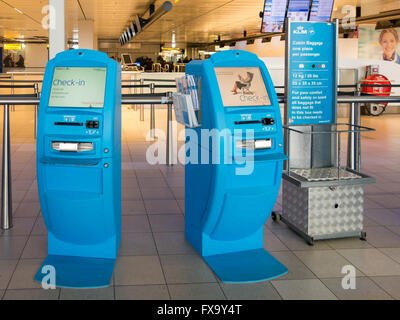
[[[270,252],[276,259],[278,259],[287,269],[288,273],[279,279],[314,279],[316,275],[301,262],[293,252],[279,251]]]

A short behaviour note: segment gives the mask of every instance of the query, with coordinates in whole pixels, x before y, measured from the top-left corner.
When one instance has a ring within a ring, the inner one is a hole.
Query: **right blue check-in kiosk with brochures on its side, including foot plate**
[[[287,158],[268,70],[255,54],[229,50],[190,62],[186,73],[197,80],[201,105],[198,143],[187,129],[199,161],[187,152],[186,238],[223,282],[284,275],[286,267],[263,249]]]

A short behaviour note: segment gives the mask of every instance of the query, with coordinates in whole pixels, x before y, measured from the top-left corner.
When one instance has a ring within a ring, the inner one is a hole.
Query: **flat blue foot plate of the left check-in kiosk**
[[[114,259],[49,255],[39,268],[35,281],[41,283],[42,279],[49,275],[48,270],[42,273],[42,268],[51,266],[56,272],[54,284],[56,287],[78,289],[108,287],[114,265]]]

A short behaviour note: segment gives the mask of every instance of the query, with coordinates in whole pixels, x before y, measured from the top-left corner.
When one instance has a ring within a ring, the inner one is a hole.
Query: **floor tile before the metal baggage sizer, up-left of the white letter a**
[[[334,250],[293,252],[318,278],[342,278],[342,268],[350,264]],[[357,276],[363,275],[357,270]]]

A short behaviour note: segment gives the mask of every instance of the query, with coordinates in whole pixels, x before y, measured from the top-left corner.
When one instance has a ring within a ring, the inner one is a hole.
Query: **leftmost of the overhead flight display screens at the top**
[[[261,32],[282,32],[287,0],[265,0]]]

